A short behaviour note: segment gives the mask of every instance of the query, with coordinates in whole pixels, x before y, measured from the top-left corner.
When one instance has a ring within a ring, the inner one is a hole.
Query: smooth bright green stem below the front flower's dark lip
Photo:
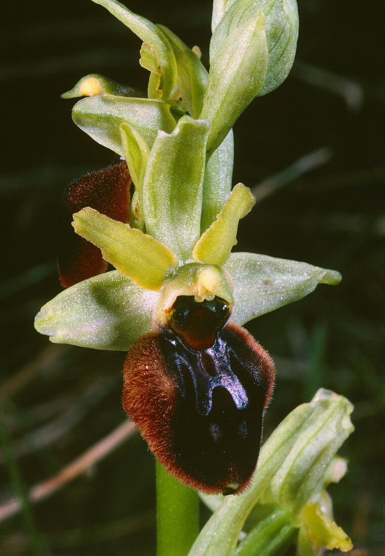
[[[199,498],[156,463],[157,556],[186,556],[199,533]]]

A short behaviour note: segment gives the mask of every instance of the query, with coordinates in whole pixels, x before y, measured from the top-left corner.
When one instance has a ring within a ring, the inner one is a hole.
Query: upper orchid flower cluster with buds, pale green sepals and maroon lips
[[[199,48],[170,29],[116,0],[93,1],[141,38],[149,85],[146,94],[92,74],[62,95],[85,97],[73,121],[116,157],[68,189],[76,234],[58,260],[66,289],[36,329],[53,342],[129,351],[124,408],[160,463],[207,494],[251,492],[274,364],[241,326],[340,280],[231,252],[255,203],[242,183],[231,189],[231,128],[287,77],[297,4],[215,0],[208,72]]]

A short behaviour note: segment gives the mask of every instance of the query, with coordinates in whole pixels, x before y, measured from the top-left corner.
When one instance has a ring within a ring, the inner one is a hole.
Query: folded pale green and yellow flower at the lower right
[[[287,548],[295,535],[302,537],[302,545],[305,539],[308,545],[308,552],[299,551],[300,556],[314,555],[322,546],[351,549],[350,539],[328,515],[324,488],[341,476],[333,474],[335,465],[340,466],[335,453],[354,430],[352,410],[347,399],[324,389],[310,403],[294,409],[261,448],[250,488],[238,497],[218,497],[223,502],[206,523],[189,556],[234,554],[245,519],[255,504],[266,507],[268,513],[239,545],[236,554],[281,553],[279,550]],[[253,539],[257,539],[263,552],[248,552]]]

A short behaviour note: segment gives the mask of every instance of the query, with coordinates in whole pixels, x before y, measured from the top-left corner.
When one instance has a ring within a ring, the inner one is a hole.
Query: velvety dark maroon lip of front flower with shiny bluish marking
[[[206,493],[230,494],[253,474],[274,365],[246,330],[226,324],[226,302],[201,303],[180,296],[169,326],[132,347],[123,401],[170,473]]]

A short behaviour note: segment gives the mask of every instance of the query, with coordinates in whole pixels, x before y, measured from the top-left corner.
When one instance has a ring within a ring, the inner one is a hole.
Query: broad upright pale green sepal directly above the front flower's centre
[[[146,231],[179,257],[191,259],[200,236],[209,122],[183,116],[175,130],[160,131],[143,184]]]

